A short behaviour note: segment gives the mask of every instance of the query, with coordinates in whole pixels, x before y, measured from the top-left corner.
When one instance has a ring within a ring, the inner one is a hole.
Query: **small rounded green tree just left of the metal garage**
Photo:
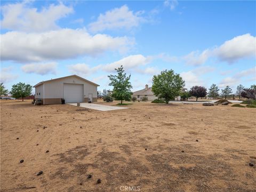
[[[10,91],[12,97],[15,99],[28,97],[31,94],[32,86],[25,83],[17,83],[12,85],[12,90]]]

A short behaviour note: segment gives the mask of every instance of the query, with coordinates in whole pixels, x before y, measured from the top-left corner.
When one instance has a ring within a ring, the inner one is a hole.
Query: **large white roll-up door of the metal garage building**
[[[83,85],[64,83],[65,103],[83,102],[83,95]]]

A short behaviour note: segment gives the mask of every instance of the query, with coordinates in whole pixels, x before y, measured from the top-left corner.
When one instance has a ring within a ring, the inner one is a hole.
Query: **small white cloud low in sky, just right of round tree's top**
[[[180,76],[185,81],[185,87],[187,89],[190,89],[192,86],[195,85],[204,86],[204,82],[201,81],[201,79],[199,79],[198,76],[193,73],[193,71],[182,72]]]

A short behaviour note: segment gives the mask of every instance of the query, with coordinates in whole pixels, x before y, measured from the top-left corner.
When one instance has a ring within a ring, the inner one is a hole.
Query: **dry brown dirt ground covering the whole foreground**
[[[256,190],[255,108],[128,107],[2,101],[1,191]]]

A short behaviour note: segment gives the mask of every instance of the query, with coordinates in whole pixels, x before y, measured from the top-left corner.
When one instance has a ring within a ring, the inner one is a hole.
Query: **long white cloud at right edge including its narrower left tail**
[[[198,66],[205,63],[207,59],[214,57],[220,61],[233,63],[244,58],[255,58],[255,56],[256,37],[244,34],[234,37],[214,49],[206,49],[202,53],[193,51],[183,59],[186,60],[188,65]]]

